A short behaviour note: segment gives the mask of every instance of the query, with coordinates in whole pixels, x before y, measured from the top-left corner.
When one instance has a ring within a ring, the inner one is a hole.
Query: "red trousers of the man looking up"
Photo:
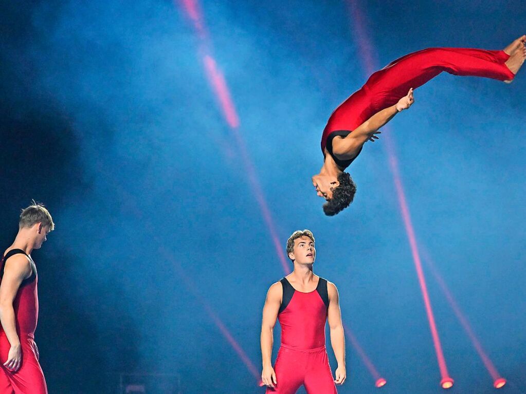
[[[281,345],[274,371],[278,383],[266,394],[294,394],[301,385],[308,394],[337,394],[325,346],[294,350]]]

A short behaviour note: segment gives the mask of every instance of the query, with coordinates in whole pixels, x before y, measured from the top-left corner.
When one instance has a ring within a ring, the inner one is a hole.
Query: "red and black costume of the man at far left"
[[[13,249],[0,260],[0,275],[4,276],[5,261],[22,253],[21,249]],[[38,318],[38,294],[36,266],[32,258],[32,274],[24,279],[13,302],[16,319],[16,332],[22,348],[22,366],[16,372],[4,367],[11,344],[0,326],[0,393],[2,394],[47,394],[46,380],[42,368],[38,364],[38,348],[35,344],[35,328]]]

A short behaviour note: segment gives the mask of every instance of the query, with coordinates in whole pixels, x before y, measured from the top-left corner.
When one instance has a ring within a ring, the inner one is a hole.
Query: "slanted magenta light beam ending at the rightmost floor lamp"
[[[438,285],[440,286],[442,293],[444,293],[444,295],[446,296],[446,299],[448,300],[448,303],[451,306],[451,309],[453,309],[454,314],[459,319],[459,322],[464,328],[464,331],[466,331],[466,334],[471,340],[473,347],[475,348],[475,350],[477,350],[477,353],[479,354],[480,359],[482,360],[482,362],[484,363],[484,366],[486,367],[489,374],[491,375],[491,378],[493,379],[494,387],[501,388],[502,386],[506,384],[506,380],[500,376],[499,372],[497,371],[497,368],[495,368],[495,366],[493,365],[493,362],[491,362],[489,356],[486,354],[486,352],[482,348],[482,345],[480,344],[479,339],[473,332],[473,329],[471,328],[471,325],[469,324],[468,319],[466,318],[466,316],[464,316],[464,314],[460,310],[460,307],[457,304],[457,301],[454,299],[453,295],[451,294],[448,285],[446,284],[446,282],[444,282],[442,275],[440,275],[439,272],[437,271],[436,265],[434,264],[433,260],[431,259],[431,257],[429,256],[429,254],[426,252],[425,249],[422,250],[422,255],[423,255],[423,261],[429,267],[431,274],[433,275],[434,279],[437,281]]]

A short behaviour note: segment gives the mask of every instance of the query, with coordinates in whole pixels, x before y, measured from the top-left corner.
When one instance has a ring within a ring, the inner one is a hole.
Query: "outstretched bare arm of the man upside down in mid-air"
[[[378,130],[385,126],[398,112],[411,107],[413,102],[413,89],[411,88],[407,96],[402,97],[395,105],[375,113],[347,137],[339,140],[334,139],[332,141],[332,152],[341,160],[355,158],[364,143],[378,139],[376,134],[381,133]]]

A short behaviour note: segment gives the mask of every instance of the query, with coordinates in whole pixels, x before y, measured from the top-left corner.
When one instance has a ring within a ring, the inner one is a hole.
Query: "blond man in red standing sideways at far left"
[[[31,252],[55,229],[49,211],[33,201],[20,215],[15,241],[0,260],[0,392],[47,394],[38,364],[36,266]]]

